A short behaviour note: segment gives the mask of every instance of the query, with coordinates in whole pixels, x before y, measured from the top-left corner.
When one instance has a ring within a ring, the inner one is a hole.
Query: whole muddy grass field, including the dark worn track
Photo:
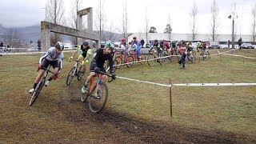
[[[66,86],[73,66],[66,61],[61,78],[43,87],[29,106],[40,54],[0,57],[1,143],[255,143],[255,86],[169,88],[117,79],[107,83],[110,97],[100,114],[80,102],[82,81]],[[211,54],[217,54],[212,51]],[[229,53],[231,54],[231,53]],[[256,57],[254,50],[233,54]],[[256,60],[222,55],[188,63],[154,67],[136,65],[118,76],[147,82],[256,82]]]

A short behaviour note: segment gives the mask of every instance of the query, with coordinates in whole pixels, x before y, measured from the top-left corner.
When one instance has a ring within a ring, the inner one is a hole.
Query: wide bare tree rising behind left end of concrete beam
[[[64,25],[64,1],[63,0],[48,0],[47,2],[47,21],[58,25]],[[58,41],[62,41],[61,34],[51,34],[51,46]]]

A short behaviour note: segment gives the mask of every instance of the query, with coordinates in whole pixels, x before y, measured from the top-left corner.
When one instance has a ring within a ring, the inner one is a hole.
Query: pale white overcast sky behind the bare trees
[[[66,16],[69,14],[70,2],[64,0]],[[128,32],[145,32],[146,11],[149,25],[155,26],[162,33],[170,14],[173,33],[190,33],[190,11],[195,2],[198,6],[196,25],[198,33],[210,32],[210,6],[213,0],[127,0]],[[232,21],[227,18],[236,3],[238,19],[235,19],[237,34],[250,34],[251,6],[255,0],[216,0],[219,8],[218,34],[230,34]],[[32,26],[45,19],[46,0],[1,0],[0,24],[6,27]],[[94,20],[98,9],[98,0],[83,0],[82,7],[93,7]],[[122,29],[122,0],[105,0],[107,26]]]

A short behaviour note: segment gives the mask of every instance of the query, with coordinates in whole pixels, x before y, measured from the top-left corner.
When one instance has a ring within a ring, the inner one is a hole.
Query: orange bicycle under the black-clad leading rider
[[[89,107],[90,111],[93,113],[99,113],[103,107],[106,105],[106,100],[108,98],[108,88],[106,83],[102,82],[102,74],[106,74],[104,72],[100,72],[100,74],[95,74],[91,79],[90,83],[87,87],[87,94],[81,95],[81,101],[86,102],[87,98],[89,98]],[[112,82],[112,75],[106,74],[109,76],[108,82]],[[94,78],[98,76],[96,84],[94,84]]]

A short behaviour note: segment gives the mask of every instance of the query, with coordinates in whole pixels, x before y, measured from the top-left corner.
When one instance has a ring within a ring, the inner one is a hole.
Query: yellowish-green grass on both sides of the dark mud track
[[[65,54],[66,61],[70,54]],[[211,51],[210,54],[217,52]],[[255,50],[236,50],[233,54],[256,58]],[[34,106],[28,106],[28,90],[38,74],[39,57],[40,54],[0,57],[0,141],[19,142],[27,135],[35,140],[44,138],[45,142],[63,136],[66,136],[63,142],[68,142],[68,138],[83,138],[82,127],[66,120],[66,111],[75,115],[85,109],[78,102],[77,94],[82,82],[74,80],[70,86],[66,86],[66,75],[73,62],[64,62],[61,78],[51,82],[49,87],[44,87],[42,97],[37,99]],[[172,83],[256,82],[255,59],[244,61],[243,58],[222,55],[221,61],[220,56],[212,56],[205,61],[198,62],[197,59],[194,64],[186,64],[186,70],[179,67],[177,60],[165,66],[158,63],[153,67],[138,64],[130,69],[123,66],[116,74],[162,84],[169,84],[169,80]],[[170,117],[168,87],[122,79],[107,83],[107,86],[110,90],[110,98],[106,103],[108,110],[131,114],[146,122],[256,136],[256,86],[174,86],[173,117]],[[75,88],[77,93],[74,92]]]

